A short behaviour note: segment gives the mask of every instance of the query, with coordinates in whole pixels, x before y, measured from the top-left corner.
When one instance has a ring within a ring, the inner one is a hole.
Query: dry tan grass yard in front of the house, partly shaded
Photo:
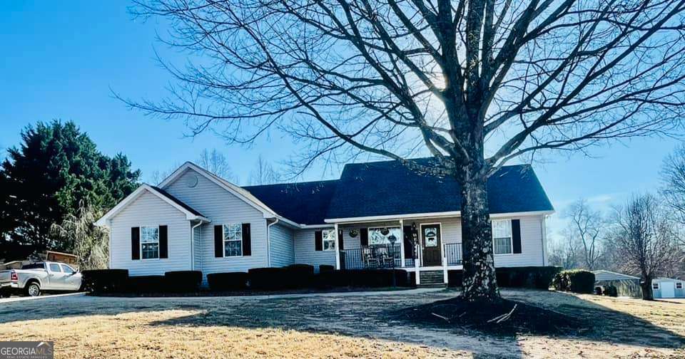
[[[565,337],[484,335],[389,315],[455,294],[0,302],[0,340],[53,340],[56,358],[685,358],[685,301],[502,291],[597,323]]]

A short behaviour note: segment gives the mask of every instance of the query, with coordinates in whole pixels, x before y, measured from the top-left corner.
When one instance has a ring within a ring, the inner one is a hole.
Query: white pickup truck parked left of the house
[[[40,296],[41,291],[78,291],[81,273],[68,264],[44,261],[0,271],[0,297],[11,293]]]

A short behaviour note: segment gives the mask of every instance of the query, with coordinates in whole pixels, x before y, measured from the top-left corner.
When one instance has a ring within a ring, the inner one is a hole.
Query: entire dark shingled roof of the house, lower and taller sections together
[[[432,158],[418,158],[431,165]],[[504,166],[488,180],[491,213],[554,209],[529,165]],[[460,186],[452,178],[420,175],[397,161],[345,165],[340,180],[243,187],[298,224],[324,219],[459,211]]]

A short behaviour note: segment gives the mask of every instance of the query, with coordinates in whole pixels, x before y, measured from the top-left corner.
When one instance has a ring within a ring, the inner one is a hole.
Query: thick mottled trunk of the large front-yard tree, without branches
[[[466,170],[465,173],[473,172]],[[487,183],[484,179],[469,175],[460,176],[460,182],[464,251],[463,296],[467,301],[496,301],[499,300],[499,290],[494,275]]]

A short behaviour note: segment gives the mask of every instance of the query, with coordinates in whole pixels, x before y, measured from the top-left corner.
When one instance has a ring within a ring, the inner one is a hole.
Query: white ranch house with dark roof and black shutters
[[[416,159],[430,165],[431,159]],[[488,182],[495,266],[546,266],[554,209],[532,167],[502,167]],[[158,187],[143,184],[98,220],[110,268],[248,271],[310,264],[395,268],[417,284],[462,269],[458,184],[395,161],[346,165],[340,180],[239,187],[191,162]]]

